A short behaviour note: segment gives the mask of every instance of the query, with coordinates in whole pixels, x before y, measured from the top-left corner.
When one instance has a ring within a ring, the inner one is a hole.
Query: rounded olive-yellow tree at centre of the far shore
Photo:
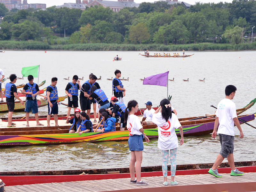
[[[132,42],[139,41],[140,44],[142,41],[146,41],[150,38],[150,34],[148,32],[148,28],[146,27],[145,23],[138,23],[135,26],[131,26],[129,39]]]

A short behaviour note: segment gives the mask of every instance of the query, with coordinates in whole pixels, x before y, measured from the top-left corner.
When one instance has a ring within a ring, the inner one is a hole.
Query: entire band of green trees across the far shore
[[[201,42],[239,44],[256,25],[256,1],[170,5],[161,1],[141,3],[118,13],[102,6],[86,10],[49,7],[8,12],[0,4],[0,40],[36,40],[54,44],[59,33],[69,43],[190,44]],[[255,29],[256,32],[256,29]]]

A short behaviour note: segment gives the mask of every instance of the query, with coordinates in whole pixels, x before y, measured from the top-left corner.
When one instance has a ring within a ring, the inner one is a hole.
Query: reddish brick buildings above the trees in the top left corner
[[[14,8],[22,10],[22,9],[28,9],[28,8],[42,8],[46,9],[46,4],[40,4],[40,3],[33,3],[28,4],[27,0],[23,0],[23,3],[21,4],[21,0],[0,0],[0,3],[3,3],[7,9],[12,10]]]

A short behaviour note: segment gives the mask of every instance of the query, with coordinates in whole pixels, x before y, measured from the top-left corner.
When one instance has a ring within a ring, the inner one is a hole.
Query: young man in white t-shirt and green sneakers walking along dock
[[[220,154],[217,156],[217,159],[213,164],[212,168],[208,171],[208,173],[212,174],[215,177],[222,177],[222,175],[218,173],[217,168],[224,160],[224,158],[228,159],[228,163],[231,168],[231,176],[244,174],[244,172],[240,172],[236,169],[233,156],[235,138],[234,123],[236,124],[236,127],[240,131],[239,137],[244,137],[244,133],[242,131],[239,120],[236,115],[236,105],[233,101],[231,101],[236,94],[236,87],[234,85],[228,85],[225,89],[225,94],[226,98],[221,100],[220,103],[218,104],[218,108],[215,113],[217,117],[212,132],[212,138],[215,138],[217,133],[219,134],[221,144]]]

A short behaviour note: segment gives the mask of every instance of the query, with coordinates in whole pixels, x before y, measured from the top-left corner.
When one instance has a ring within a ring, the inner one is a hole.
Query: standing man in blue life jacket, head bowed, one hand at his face
[[[74,75],[72,82],[69,82],[66,86],[65,93],[68,95],[68,112],[67,116],[70,116],[72,106],[74,111],[78,108],[78,91],[81,90],[80,81],[77,75]],[[71,99],[72,98],[72,99]]]

